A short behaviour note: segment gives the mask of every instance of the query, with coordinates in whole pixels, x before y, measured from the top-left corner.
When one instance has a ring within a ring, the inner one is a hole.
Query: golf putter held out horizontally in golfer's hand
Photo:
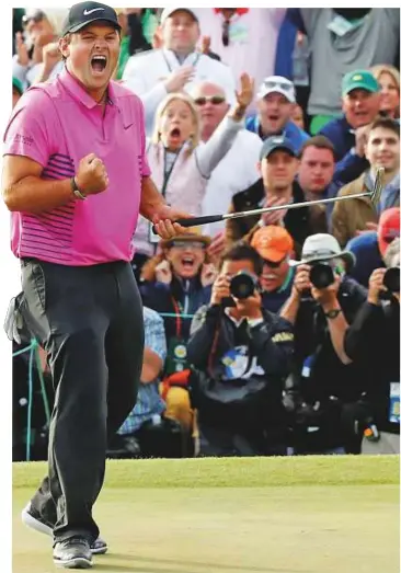
[[[312,205],[325,205],[328,203],[336,203],[339,200],[357,199],[359,197],[369,197],[375,207],[378,205],[382,191],[382,176],[385,173],[383,168],[379,168],[376,172],[375,184],[373,191],[368,193],[357,193],[354,195],[345,195],[344,197],[332,197],[330,199],[317,199],[307,200],[305,203],[291,203],[290,205],[278,205],[276,207],[262,207],[260,209],[244,210],[238,213],[227,213],[226,215],[205,215],[204,217],[193,217],[190,219],[177,219],[177,222],[182,227],[198,227],[199,225],[207,225],[209,222],[218,222],[228,219],[240,219],[242,217],[250,217],[252,215],[262,215],[263,213],[270,213],[282,209],[301,209],[303,207],[311,207]],[[152,227],[156,233],[156,227]]]

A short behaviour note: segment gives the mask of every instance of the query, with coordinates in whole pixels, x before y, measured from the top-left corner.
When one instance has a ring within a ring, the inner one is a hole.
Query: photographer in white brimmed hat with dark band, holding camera
[[[330,234],[308,237],[291,295],[280,316],[294,324],[293,383],[300,392],[294,413],[299,454],[354,451],[355,435],[345,431],[348,404],[358,400],[363,376],[344,351],[344,334],[366,299],[365,289],[347,278],[353,256]]]

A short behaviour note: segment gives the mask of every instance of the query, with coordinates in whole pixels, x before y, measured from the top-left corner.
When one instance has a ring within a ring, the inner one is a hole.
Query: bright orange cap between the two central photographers
[[[257,229],[252,237],[251,247],[259,252],[262,259],[278,263],[278,261],[291,253],[294,241],[293,237],[283,227],[268,225]]]

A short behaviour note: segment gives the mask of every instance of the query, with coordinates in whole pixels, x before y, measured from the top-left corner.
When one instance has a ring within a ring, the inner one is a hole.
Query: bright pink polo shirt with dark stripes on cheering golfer
[[[39,215],[12,214],[12,251],[64,265],[130,261],[146,159],[144,106],[111,82],[105,114],[64,70],[51,83],[34,85],[16,104],[4,135],[4,153],[26,156],[43,167],[42,177],[72,177],[80,160],[95,153],[110,186],[87,200]]]

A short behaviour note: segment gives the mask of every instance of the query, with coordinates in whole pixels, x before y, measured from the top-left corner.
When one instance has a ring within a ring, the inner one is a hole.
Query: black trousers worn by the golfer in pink
[[[142,365],[142,307],[129,263],[22,261],[26,322],[48,353],[55,387],[48,477],[32,503],[55,541],[99,536],[92,506],[107,438],[133,410]]]

